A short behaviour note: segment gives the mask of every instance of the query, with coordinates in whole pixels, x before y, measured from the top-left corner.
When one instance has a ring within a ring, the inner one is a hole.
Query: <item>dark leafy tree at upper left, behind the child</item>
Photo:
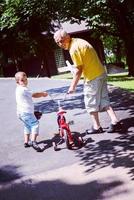
[[[31,55],[42,56],[44,38],[51,37],[55,4],[49,0],[2,0],[0,3],[0,52],[7,63],[12,59],[16,68],[20,60]],[[42,32],[46,36],[42,37]],[[51,41],[49,43],[51,45]]]

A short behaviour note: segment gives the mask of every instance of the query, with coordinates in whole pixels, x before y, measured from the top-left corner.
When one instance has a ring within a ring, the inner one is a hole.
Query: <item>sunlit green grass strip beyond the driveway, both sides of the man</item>
[[[54,79],[72,79],[71,73],[64,73],[53,76]],[[127,73],[109,74],[108,84],[134,92],[134,77],[128,77]]]

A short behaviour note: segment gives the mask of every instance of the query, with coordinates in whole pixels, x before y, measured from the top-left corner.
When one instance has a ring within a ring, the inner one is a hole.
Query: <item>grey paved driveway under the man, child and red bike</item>
[[[47,90],[58,100],[70,81],[30,79],[35,91]],[[37,153],[23,147],[22,124],[16,117],[14,79],[0,79],[0,200],[133,200],[134,196],[134,94],[109,86],[110,99],[123,123],[123,132],[86,135],[91,126],[83,103],[82,84],[63,106],[73,132],[86,140],[80,150],[69,151],[62,144],[54,152],[52,138],[57,132],[57,105],[49,97],[35,101],[43,111],[40,146]],[[106,113],[100,114],[104,129]]]

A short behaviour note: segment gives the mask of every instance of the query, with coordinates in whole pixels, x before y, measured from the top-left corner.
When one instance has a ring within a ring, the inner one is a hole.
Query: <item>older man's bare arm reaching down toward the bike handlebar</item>
[[[75,72],[75,75],[73,77],[73,80],[72,80],[72,83],[69,87],[69,90],[68,90],[68,93],[73,93],[75,91],[75,88],[80,80],[80,77],[82,75],[82,67],[79,66],[79,68],[76,68],[76,72]]]

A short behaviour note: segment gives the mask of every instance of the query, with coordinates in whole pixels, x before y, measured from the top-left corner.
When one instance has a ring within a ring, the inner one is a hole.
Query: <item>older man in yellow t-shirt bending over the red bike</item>
[[[63,29],[55,32],[54,40],[59,47],[69,50],[74,66],[76,67],[76,73],[68,93],[75,91],[78,81],[83,74],[85,107],[93,122],[93,126],[91,130],[88,130],[88,133],[103,132],[98,114],[103,110],[107,111],[111,119],[111,125],[107,132],[118,131],[120,123],[110,106],[105,68],[100,62],[95,49],[83,39],[71,38]]]

